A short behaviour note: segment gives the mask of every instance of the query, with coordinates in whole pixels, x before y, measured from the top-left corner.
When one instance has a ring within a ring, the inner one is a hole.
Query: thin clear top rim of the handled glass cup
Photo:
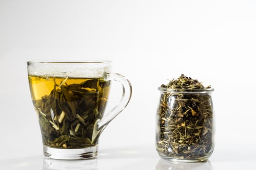
[[[85,60],[85,61],[27,61],[27,64],[112,64],[112,61],[108,60]]]

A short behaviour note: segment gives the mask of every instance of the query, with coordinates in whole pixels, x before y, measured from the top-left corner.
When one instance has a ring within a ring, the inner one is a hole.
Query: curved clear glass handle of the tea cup
[[[111,109],[107,114],[104,114],[102,119],[98,121],[97,129],[101,131],[108,125],[108,123],[111,120],[113,120],[121,111],[123,111],[123,109],[127,106],[132,96],[132,85],[129,82],[129,80],[127,80],[121,74],[105,73],[104,79],[107,81],[114,80],[121,83],[121,85],[123,86],[123,94],[118,104],[113,109]]]

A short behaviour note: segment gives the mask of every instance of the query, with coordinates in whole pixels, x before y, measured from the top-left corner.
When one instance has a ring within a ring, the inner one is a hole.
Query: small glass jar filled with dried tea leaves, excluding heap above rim
[[[165,159],[182,162],[207,160],[214,150],[214,108],[209,89],[159,87],[156,148]]]

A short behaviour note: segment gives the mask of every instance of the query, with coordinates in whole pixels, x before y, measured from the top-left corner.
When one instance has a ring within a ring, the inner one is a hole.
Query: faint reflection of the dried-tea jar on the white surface
[[[156,170],[213,170],[211,162],[172,162],[160,158]]]

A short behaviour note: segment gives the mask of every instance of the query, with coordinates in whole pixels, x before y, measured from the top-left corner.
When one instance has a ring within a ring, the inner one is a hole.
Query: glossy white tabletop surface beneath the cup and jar
[[[236,150],[234,150],[236,149]],[[256,149],[216,149],[209,161],[181,163],[161,159],[151,147],[109,148],[97,159],[63,161],[31,155],[0,161],[2,170],[253,170]]]

